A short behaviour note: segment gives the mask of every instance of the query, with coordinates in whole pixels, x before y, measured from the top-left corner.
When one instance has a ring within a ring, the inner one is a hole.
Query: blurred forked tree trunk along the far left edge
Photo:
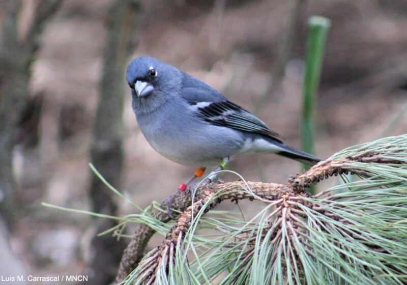
[[[30,66],[43,27],[61,4],[62,0],[36,1],[30,19],[25,19],[20,17],[22,1],[2,3],[6,18],[0,43],[0,213],[9,225],[15,219],[17,205],[13,149],[16,127],[28,101]]]

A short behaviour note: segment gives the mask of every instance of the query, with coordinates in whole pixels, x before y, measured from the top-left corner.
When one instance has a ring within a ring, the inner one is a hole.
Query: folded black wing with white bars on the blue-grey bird
[[[197,116],[216,126],[263,134],[281,143],[282,137],[266,124],[239,105],[224,100],[219,102],[190,102]]]

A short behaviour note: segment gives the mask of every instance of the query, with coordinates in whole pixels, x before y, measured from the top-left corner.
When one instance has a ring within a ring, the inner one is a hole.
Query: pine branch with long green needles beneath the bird
[[[404,135],[344,150],[286,184],[210,184],[197,189],[192,205],[188,194],[176,197],[182,214],[161,245],[139,262],[126,284],[183,283],[188,278],[203,282],[225,270],[230,273],[222,283],[258,283],[270,278],[298,284],[353,283],[362,277],[366,283],[377,278],[403,283],[407,246],[401,236],[407,233],[402,223],[407,218],[407,199],[399,197],[404,188],[392,187],[407,184],[406,142]],[[345,184],[351,191],[335,194],[338,187],[334,187],[314,196],[306,192],[311,184],[346,173],[363,178]],[[195,234],[198,223],[205,222],[203,216],[219,203],[243,199],[265,202],[266,207],[243,226],[220,230],[220,240]],[[165,214],[160,218],[168,220]],[[144,250],[140,245],[147,244],[148,238],[135,234],[138,240],[133,237],[132,242]],[[198,254],[197,248],[207,249]],[[186,255],[191,250],[195,255],[192,263]]]

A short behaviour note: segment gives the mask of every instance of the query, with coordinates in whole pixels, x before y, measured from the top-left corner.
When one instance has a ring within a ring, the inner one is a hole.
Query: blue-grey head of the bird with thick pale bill
[[[127,83],[137,98],[160,96],[161,93],[168,96],[179,88],[181,76],[175,67],[145,56],[133,60],[126,73]]]

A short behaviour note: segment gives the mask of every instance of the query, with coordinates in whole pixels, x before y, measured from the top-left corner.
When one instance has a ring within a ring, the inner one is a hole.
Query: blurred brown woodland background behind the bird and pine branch
[[[0,0],[0,275],[108,284],[127,241],[95,235],[114,223],[41,202],[130,214],[89,162],[140,207],[195,170],[161,157],[137,127],[124,80],[136,56],[209,83],[300,148],[311,15],[332,21],[315,100],[316,155],[405,133],[405,1]],[[229,169],[284,183],[301,165],[255,155]]]

